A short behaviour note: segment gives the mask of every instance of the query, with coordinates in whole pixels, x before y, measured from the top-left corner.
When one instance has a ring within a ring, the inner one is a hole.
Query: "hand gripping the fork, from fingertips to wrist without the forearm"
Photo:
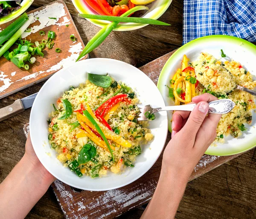
[[[205,93],[192,101],[192,112],[176,111],[172,116],[172,140],[163,154],[163,171],[179,170],[187,177],[216,137],[221,114],[208,113],[207,102],[218,100]]]

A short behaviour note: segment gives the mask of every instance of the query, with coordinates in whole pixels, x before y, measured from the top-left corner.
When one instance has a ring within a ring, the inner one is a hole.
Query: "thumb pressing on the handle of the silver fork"
[[[198,130],[201,127],[208,110],[209,104],[205,101],[201,101],[190,113],[186,124],[181,130],[188,140],[195,141],[196,134],[198,133]]]

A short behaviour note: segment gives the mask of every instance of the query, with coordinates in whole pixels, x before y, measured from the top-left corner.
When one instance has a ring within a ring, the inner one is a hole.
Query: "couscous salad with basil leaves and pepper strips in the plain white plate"
[[[153,139],[147,122],[139,122],[139,100],[130,87],[108,75],[89,74],[53,104],[49,143],[57,158],[79,177],[121,173],[134,167],[141,144]]]

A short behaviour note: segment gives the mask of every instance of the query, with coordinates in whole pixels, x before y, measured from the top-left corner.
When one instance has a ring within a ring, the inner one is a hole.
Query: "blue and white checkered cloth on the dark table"
[[[208,35],[256,41],[256,0],[184,0],[183,44]]]

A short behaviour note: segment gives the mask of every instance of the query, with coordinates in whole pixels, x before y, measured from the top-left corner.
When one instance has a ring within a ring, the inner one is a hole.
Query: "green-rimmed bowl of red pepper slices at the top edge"
[[[157,20],[168,9],[172,0],[72,0],[72,2],[81,14],[100,14],[108,16],[120,16],[135,6],[145,5],[149,10],[145,10],[140,14],[134,13],[131,16]],[[110,23],[110,21],[107,20],[87,20],[99,27],[104,27],[106,24]],[[119,23],[114,30],[136,30],[147,25],[148,24],[141,23]]]

